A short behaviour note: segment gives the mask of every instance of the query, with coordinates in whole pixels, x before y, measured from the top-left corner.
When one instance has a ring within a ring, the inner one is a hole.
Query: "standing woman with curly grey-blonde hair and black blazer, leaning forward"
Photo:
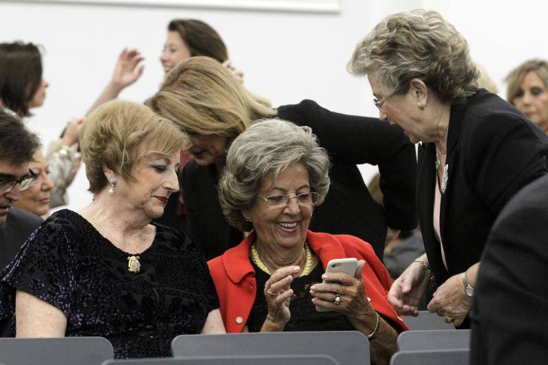
[[[422,142],[416,203],[426,255],[394,281],[388,300],[416,315],[427,286],[437,284],[428,310],[468,327],[487,235],[506,202],[547,173],[548,138],[477,87],[466,40],[437,12],[386,17],[349,66],[369,77],[380,118]]]

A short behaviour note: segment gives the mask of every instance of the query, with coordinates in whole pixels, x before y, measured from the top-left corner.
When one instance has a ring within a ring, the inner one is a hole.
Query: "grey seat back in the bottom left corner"
[[[0,362],[10,365],[101,365],[113,357],[102,337],[0,338]]]

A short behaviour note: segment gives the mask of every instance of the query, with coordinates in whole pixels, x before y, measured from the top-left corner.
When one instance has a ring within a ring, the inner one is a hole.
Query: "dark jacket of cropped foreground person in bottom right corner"
[[[471,313],[471,364],[548,364],[548,175],[508,202],[490,232]]]

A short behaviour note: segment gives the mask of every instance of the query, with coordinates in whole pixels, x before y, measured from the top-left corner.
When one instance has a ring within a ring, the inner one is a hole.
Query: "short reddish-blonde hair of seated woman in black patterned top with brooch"
[[[151,155],[171,158],[184,145],[177,126],[145,105],[109,101],[89,116],[82,128],[80,148],[90,192],[97,194],[108,181],[108,167],[125,181],[137,181],[134,166]]]

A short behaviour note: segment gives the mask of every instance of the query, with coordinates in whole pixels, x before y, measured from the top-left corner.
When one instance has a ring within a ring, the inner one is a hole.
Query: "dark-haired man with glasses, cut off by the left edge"
[[[16,117],[0,109],[0,270],[42,223],[40,217],[12,207],[19,192],[36,179],[29,161],[38,147],[38,138]]]

